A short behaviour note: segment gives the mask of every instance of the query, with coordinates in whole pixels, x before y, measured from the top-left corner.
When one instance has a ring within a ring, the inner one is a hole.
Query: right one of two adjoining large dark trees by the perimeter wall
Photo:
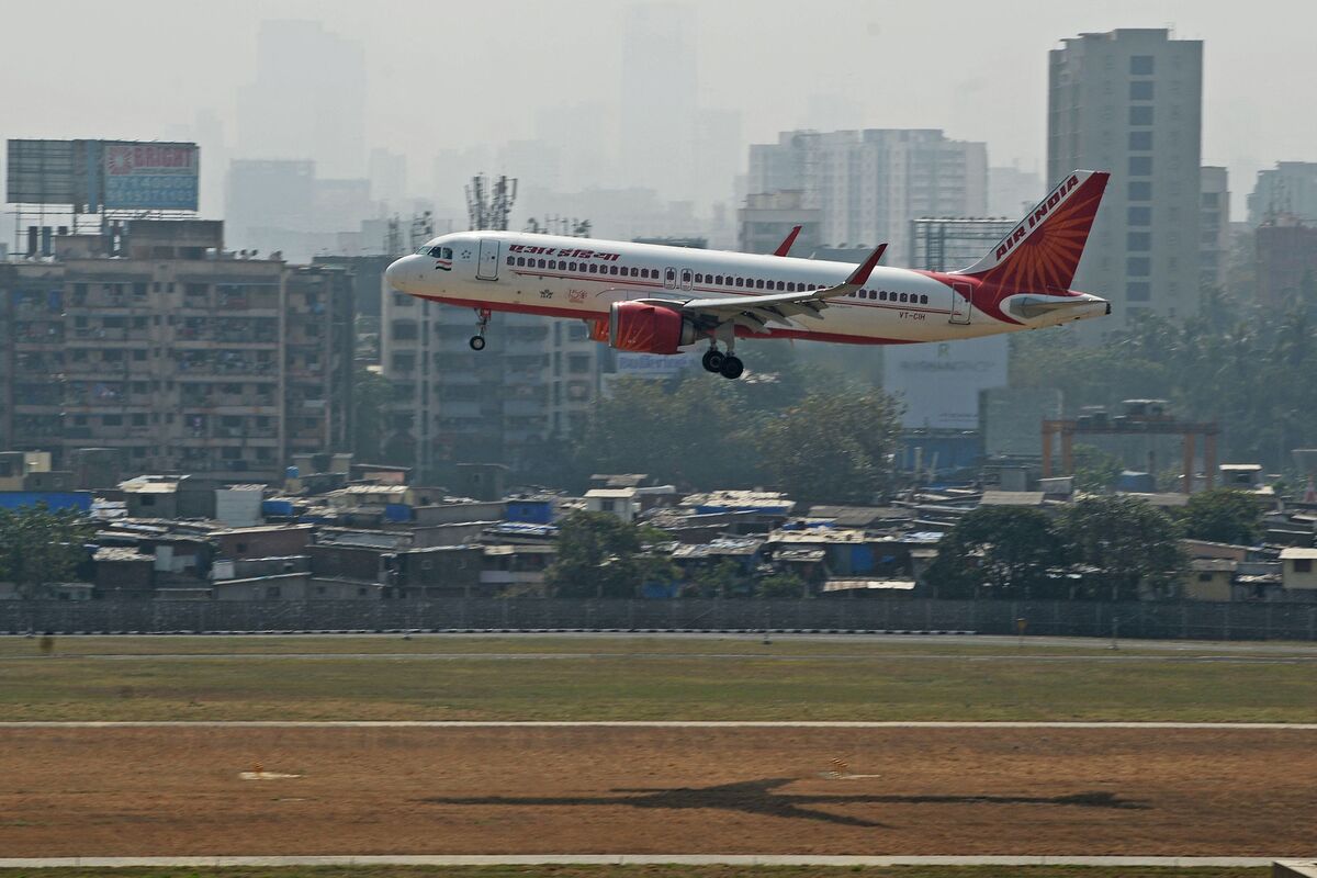
[[[1056,529],[1071,559],[1098,571],[1094,598],[1138,600],[1141,586],[1169,596],[1184,574],[1175,521],[1138,498],[1080,500],[1062,509]]]

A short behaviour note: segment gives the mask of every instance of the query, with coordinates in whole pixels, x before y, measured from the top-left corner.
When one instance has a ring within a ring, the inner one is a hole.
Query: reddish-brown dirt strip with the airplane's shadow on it
[[[0,856],[1310,856],[1314,744],[1214,729],[9,728]],[[302,777],[240,778],[257,767]]]

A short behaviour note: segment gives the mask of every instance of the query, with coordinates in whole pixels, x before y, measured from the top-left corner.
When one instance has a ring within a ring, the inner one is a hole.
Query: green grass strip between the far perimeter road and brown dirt
[[[33,640],[0,638],[0,716],[1317,721],[1317,667],[1303,648],[1193,658],[1210,654],[934,640],[115,637],[62,638],[45,657]]]

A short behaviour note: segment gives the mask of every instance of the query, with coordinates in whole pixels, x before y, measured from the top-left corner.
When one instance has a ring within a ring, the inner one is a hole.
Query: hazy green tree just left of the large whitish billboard
[[[898,415],[881,391],[819,391],[765,420],[755,441],[793,499],[872,503],[892,486]]]

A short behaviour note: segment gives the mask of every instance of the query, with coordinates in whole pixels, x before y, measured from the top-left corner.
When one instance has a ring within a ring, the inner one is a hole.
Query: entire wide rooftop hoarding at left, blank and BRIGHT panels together
[[[196,209],[196,143],[12,140],[7,157],[11,204],[66,204],[79,213]]]

